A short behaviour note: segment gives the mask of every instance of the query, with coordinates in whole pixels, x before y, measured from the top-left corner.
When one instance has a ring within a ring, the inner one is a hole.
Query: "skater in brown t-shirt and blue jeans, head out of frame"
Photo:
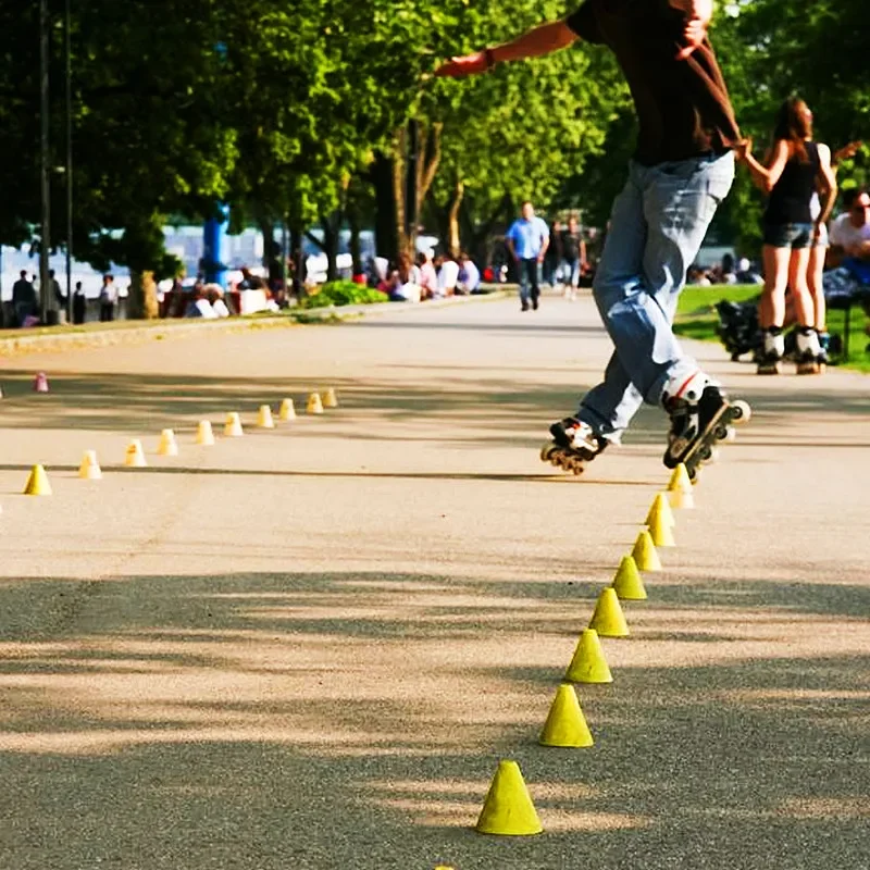
[[[453,58],[436,72],[483,73],[580,38],[607,46],[629,82],[639,136],[593,283],[616,350],[577,415],[550,427],[555,444],[584,461],[618,443],[644,401],[670,415],[670,468],[694,456],[729,412],[724,391],[684,353],[672,330],[686,271],[731,189],[741,141],[707,37],[712,12],[712,0],[586,0],[563,21]]]

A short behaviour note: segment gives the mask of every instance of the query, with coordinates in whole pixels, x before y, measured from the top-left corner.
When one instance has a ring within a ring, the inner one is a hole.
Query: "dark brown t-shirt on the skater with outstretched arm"
[[[635,159],[647,166],[724,153],[741,138],[709,40],[676,60],[684,21],[668,0],[586,0],[566,22],[617,55],[641,122]]]

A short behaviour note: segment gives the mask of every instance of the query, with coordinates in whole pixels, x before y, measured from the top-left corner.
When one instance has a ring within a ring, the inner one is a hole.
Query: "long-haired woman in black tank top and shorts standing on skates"
[[[782,335],[785,320],[785,290],[791,286],[798,322],[797,371],[820,371],[821,346],[816,326],[815,304],[807,286],[810,248],[831,215],[836,198],[836,178],[831,169],[831,150],[812,141],[812,113],[804,100],[786,100],[776,116],[773,148],[768,166],[751,154],[751,140],[737,150],[753,181],[766,194],[765,291],[758,309],[763,347],[759,374],[779,374],[785,350]],[[821,214],[813,219],[810,202],[817,191],[824,194]]]

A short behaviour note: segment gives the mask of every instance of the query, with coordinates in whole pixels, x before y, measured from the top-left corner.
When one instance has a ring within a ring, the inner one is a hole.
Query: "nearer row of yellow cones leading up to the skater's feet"
[[[656,496],[646,518],[647,527],[638,535],[631,556],[622,559],[612,583],[598,597],[589,626],[581,634],[564,682],[559,686],[550,707],[539,737],[542,746],[583,748],[594,745],[573,684],[613,682],[599,638],[629,636],[629,624],[620,600],[646,599],[642,572],[661,571],[658,548],[675,546],[672,509],[694,506],[692,483],[685,467],[680,465],[671,476],[667,492]],[[543,832],[532,796],[515,761],[499,761],[475,830],[482,834],[502,836],[527,836]]]

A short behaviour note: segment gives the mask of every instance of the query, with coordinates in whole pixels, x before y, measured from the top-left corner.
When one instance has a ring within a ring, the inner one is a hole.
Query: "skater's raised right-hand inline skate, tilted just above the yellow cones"
[[[666,389],[664,410],[671,418],[664,464],[675,469],[685,464],[695,481],[705,462],[717,458],[717,443],[733,440],[733,424],[746,423],[751,409],[745,401],[731,402],[722,388],[703,372],[697,372],[673,393]]]

